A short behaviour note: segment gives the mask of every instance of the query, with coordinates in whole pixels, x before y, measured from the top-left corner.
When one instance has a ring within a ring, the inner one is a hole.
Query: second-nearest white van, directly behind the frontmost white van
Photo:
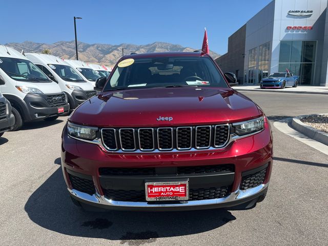
[[[65,92],[71,109],[75,109],[97,94],[93,89],[94,86],[83,79],[78,71],[63,59],[47,54],[26,53],[25,55]]]

